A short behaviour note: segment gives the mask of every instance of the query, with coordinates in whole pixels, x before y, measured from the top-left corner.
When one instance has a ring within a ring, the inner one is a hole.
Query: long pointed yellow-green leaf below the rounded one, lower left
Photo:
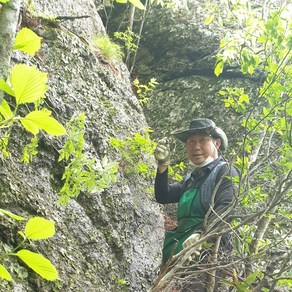
[[[41,254],[22,249],[16,255],[42,278],[49,281],[59,279],[54,265]]]

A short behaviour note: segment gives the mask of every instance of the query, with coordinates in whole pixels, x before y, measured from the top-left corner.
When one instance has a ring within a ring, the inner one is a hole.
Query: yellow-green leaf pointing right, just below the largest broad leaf
[[[48,134],[61,136],[66,134],[66,129],[53,117],[50,117],[51,111],[43,109],[33,111],[20,119],[23,127],[36,135],[39,130],[44,130]]]

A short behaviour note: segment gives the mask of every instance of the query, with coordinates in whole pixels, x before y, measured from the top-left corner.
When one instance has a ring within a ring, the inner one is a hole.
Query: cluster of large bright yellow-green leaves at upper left
[[[17,34],[14,47],[33,55],[39,48],[39,44],[40,38],[24,28]],[[46,83],[47,73],[26,64],[15,65],[7,81],[0,79],[0,89],[14,98],[11,102],[8,102],[10,99],[3,98],[0,105],[0,130],[4,130],[0,138],[0,150],[4,157],[10,156],[7,147],[12,126],[16,123],[34,135],[33,143],[24,149],[25,154],[22,159],[24,162],[31,161],[32,156],[37,153],[35,150],[37,147],[36,135],[40,130],[54,136],[66,134],[65,128],[51,117],[51,111],[40,108],[48,89]],[[23,112],[24,106],[27,104],[33,104],[35,110],[25,116],[20,116],[19,114]],[[29,152],[28,149],[30,149]]]

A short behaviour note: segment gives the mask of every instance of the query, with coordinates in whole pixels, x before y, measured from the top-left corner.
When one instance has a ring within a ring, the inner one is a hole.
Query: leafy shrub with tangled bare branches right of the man
[[[225,18],[215,14],[206,20],[215,25],[220,18],[228,31],[219,44],[214,73],[220,76],[224,70],[237,68],[243,78],[260,82],[253,94],[248,93],[250,88],[239,87],[219,92],[228,111],[236,113],[243,136],[234,158],[234,166],[240,170],[235,181],[236,209],[230,210],[235,218],[226,229],[211,231],[222,235],[231,227],[235,254],[226,265],[223,255],[204,269],[212,273],[216,264],[224,269],[232,280],[221,281],[230,291],[288,291],[292,285],[291,4],[283,1],[277,7],[266,2],[264,7],[253,7],[253,2],[245,0],[224,3],[229,9]],[[190,276],[190,270],[179,268],[189,256],[191,251],[171,263],[172,269],[166,268],[152,291],[167,290],[172,279]],[[230,266],[235,267],[233,272]],[[195,267],[192,265],[193,270]]]

